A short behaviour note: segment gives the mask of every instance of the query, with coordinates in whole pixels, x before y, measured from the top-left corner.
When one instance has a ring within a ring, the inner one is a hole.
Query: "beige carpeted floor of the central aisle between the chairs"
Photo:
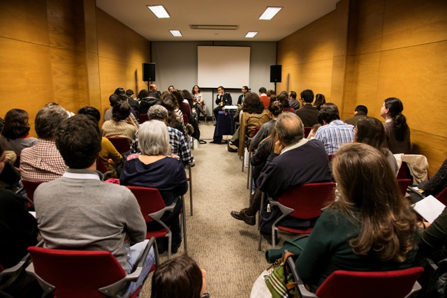
[[[200,123],[201,138],[207,144],[193,150],[193,216],[189,213],[189,193],[185,195],[188,255],[207,271],[211,297],[249,297],[254,281],[268,267],[264,255],[270,246],[263,240],[262,251],[258,251],[257,226],[230,216],[230,211],[248,206],[247,168],[241,171],[242,159],[228,152],[226,144],[210,144],[213,124]],[[183,248],[173,258],[183,254]],[[161,262],[166,260],[165,253]],[[150,297],[150,278],[152,274],[140,297]]]

